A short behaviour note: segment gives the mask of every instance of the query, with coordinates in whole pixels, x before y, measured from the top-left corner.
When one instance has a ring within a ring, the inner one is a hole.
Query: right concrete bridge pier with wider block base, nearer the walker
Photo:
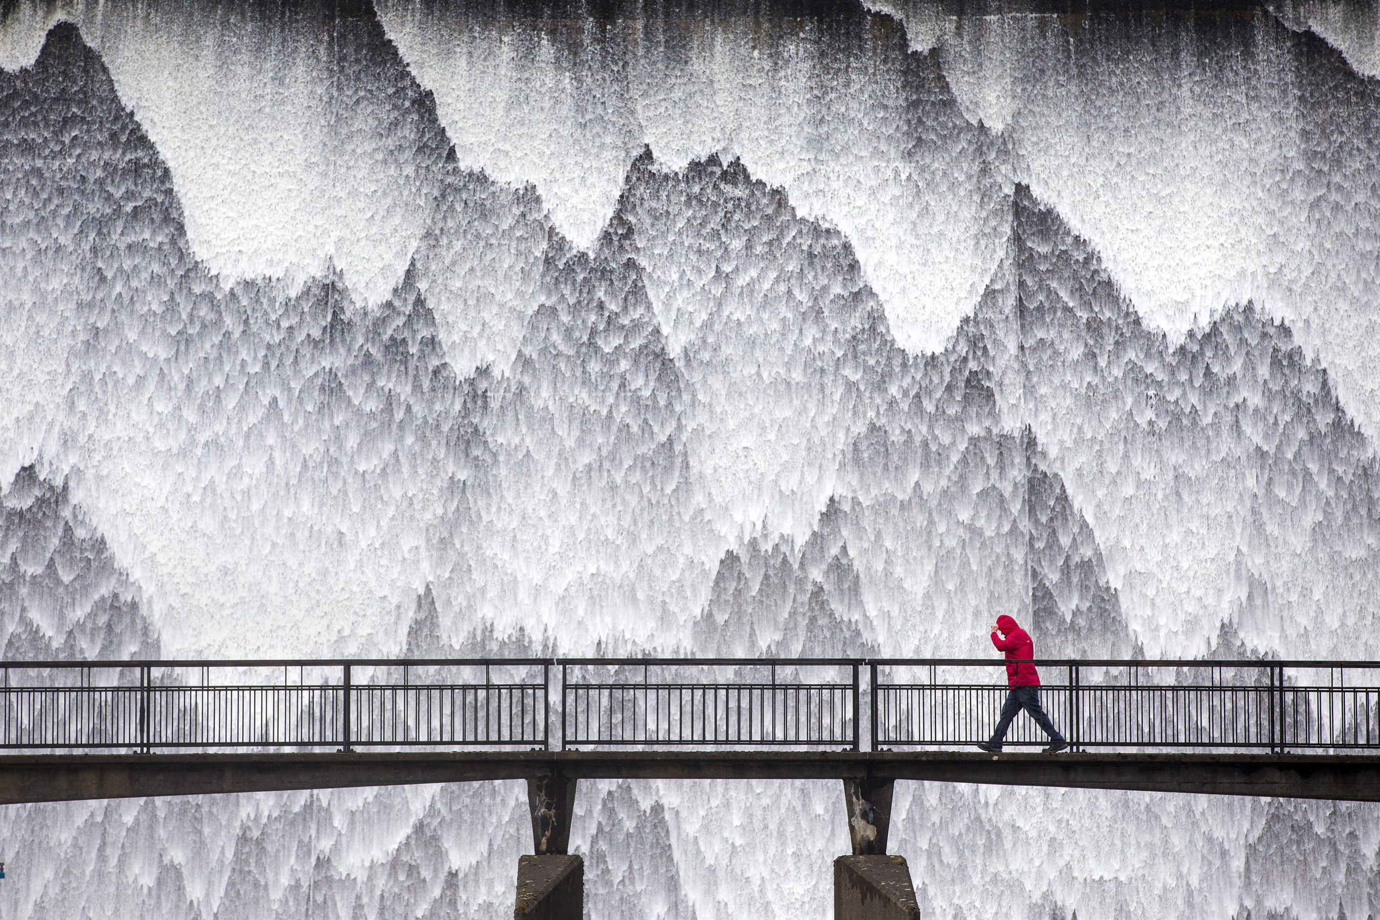
[[[834,861],[834,920],[919,920],[903,857],[886,855],[894,779],[845,779],[851,857]]]

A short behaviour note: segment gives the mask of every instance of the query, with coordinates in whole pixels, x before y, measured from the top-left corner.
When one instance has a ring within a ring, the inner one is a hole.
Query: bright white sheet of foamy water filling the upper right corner
[[[916,22],[912,47],[936,48],[967,117],[1010,139],[1018,178],[1097,247],[1145,321],[1177,341],[1254,301],[1373,436],[1376,7],[1282,6],[1145,29],[879,4]]]

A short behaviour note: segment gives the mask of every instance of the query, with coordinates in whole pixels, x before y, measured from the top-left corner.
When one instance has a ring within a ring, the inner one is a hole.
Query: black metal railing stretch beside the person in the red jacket
[[[1043,681],[1041,703],[1075,750],[1380,748],[1380,662],[1034,663]],[[876,748],[987,741],[1006,699],[1007,688],[987,677],[989,659],[876,659],[868,666]],[[1005,743],[1049,742],[1028,716],[1017,716]]]

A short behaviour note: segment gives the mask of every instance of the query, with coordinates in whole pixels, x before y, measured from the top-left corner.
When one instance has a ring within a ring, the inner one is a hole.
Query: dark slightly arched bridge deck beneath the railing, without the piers
[[[0,804],[522,779],[920,779],[1380,801],[1362,754],[530,750],[8,754]]]

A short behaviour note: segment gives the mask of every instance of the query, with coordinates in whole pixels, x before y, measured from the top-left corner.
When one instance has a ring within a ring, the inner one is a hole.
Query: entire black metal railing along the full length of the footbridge
[[[1034,662],[1075,750],[1380,752],[1380,662]],[[954,749],[1005,662],[508,658],[0,662],[0,749]],[[551,731],[552,720],[556,732]],[[1005,743],[1047,743],[1018,714]]]

